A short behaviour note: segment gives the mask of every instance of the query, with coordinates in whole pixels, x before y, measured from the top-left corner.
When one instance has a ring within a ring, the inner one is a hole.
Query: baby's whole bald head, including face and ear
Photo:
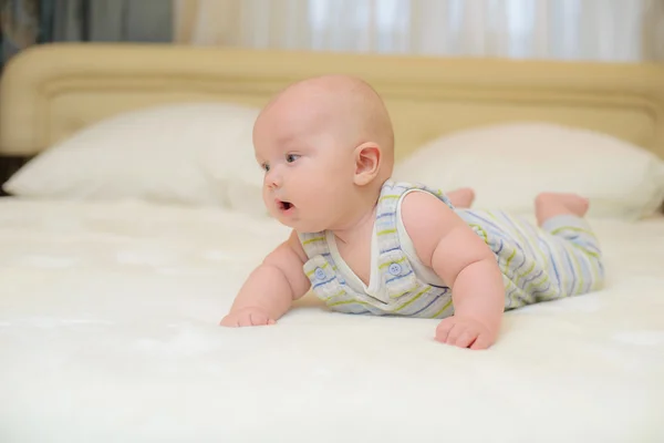
[[[394,165],[383,101],[346,75],[308,79],[280,92],[256,121],[253,146],[270,214],[307,233],[347,227],[376,203]]]

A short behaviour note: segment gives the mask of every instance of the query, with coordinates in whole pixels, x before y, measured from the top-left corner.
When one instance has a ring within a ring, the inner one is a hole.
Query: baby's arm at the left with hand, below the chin
[[[302,270],[307,259],[297,234],[270,253],[237,295],[221,326],[273,324],[304,296],[310,281]]]

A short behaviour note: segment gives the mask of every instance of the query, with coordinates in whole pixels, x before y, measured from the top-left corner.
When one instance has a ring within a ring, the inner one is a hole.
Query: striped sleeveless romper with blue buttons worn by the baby
[[[505,309],[598,290],[604,269],[598,240],[575,216],[553,217],[542,227],[499,210],[454,208],[438,189],[387,181],[381,190],[369,286],[341,258],[331,231],[300,234],[311,291],[346,313],[445,318],[454,313],[452,290],[424,266],[401,220],[401,202],[427,192],[452,207],[489,246],[502,271]]]

